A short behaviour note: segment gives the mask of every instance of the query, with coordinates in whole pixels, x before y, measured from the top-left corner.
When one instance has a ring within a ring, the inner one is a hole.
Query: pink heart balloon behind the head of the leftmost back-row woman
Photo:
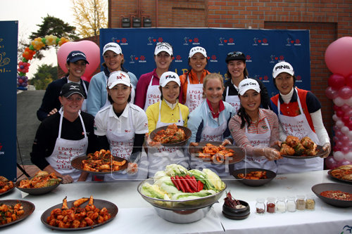
[[[58,48],[58,65],[63,72],[68,72],[65,67],[66,58],[71,51],[82,51],[86,56],[89,64],[82,79],[90,81],[91,74],[96,70],[100,63],[100,48],[93,41],[69,41]]]

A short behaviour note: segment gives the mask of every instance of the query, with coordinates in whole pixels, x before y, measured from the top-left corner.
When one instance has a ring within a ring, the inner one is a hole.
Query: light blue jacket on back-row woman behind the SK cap
[[[130,76],[132,86],[136,89],[138,82],[137,77],[132,72],[125,70],[123,67],[122,71],[127,72]],[[108,74],[108,69],[105,68],[102,72],[95,74],[90,80],[87,98],[87,112],[93,116],[95,116],[106,103],[106,97],[108,96],[108,91],[106,91]]]

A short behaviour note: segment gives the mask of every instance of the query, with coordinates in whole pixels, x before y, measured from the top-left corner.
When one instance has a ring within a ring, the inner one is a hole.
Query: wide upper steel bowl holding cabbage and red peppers
[[[147,202],[152,204],[154,207],[159,207],[161,209],[169,209],[171,211],[177,211],[177,210],[184,211],[184,210],[190,210],[190,209],[201,209],[204,207],[209,207],[212,204],[214,204],[215,202],[218,202],[222,193],[224,193],[224,191],[226,190],[226,187],[227,187],[225,184],[225,188],[222,191],[215,193],[213,195],[207,196],[207,197],[199,197],[199,198],[193,199],[193,200],[180,201],[180,200],[161,200],[161,199],[157,199],[157,198],[153,198],[153,197],[147,197],[146,195],[143,195],[141,192],[141,189],[142,189],[142,186],[144,185],[144,183],[153,184],[153,178],[148,178],[145,181],[142,181],[141,183],[139,183],[137,190],[138,190],[138,193],[140,195],[142,195],[144,200],[146,200]]]

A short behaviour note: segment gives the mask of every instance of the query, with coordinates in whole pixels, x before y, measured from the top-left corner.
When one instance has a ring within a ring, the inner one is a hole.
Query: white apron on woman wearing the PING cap
[[[295,88],[297,93],[297,103],[299,106],[299,111],[301,115],[295,117],[285,116],[280,114],[280,100],[277,100],[277,112],[279,113],[279,121],[284,130],[286,136],[297,136],[299,139],[308,136],[315,144],[319,145],[320,141],[312,129],[304,115],[301,100],[298,96],[298,91]],[[277,174],[287,174],[287,173],[296,173],[303,171],[318,171],[324,168],[324,160],[321,157],[313,157],[311,159],[305,160],[294,160],[284,157],[281,160],[277,160]]]

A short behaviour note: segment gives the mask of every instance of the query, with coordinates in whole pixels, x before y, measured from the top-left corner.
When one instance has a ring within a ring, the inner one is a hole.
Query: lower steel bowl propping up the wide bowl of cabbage
[[[172,223],[193,223],[203,219],[210,211],[212,205],[201,209],[170,210],[155,207],[156,213],[161,218]]]

